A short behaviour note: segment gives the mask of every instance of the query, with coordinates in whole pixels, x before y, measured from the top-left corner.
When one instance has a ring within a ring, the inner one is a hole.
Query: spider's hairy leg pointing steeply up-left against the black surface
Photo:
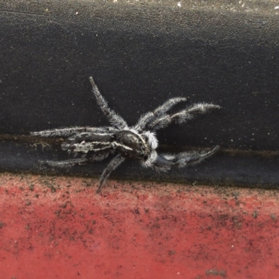
[[[114,127],[119,128],[119,129],[127,128],[128,125],[127,125],[126,121],[121,116],[116,114],[116,112],[114,112],[114,110],[110,110],[110,107],[107,106],[107,101],[100,94],[100,91],[99,91],[96,83],[94,82],[93,77],[89,77],[89,80],[92,85],[92,92],[94,93],[94,95],[97,99],[97,103],[98,103],[98,105],[100,105],[101,110],[107,116],[107,119],[110,121],[110,123]]]

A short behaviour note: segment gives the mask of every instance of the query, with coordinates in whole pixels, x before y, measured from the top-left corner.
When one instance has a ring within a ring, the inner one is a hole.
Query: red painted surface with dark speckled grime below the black
[[[96,183],[1,174],[0,278],[279,278],[277,191]]]

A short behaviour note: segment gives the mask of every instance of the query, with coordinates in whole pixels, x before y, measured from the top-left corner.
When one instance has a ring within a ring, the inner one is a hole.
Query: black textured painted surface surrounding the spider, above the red
[[[91,94],[93,75],[130,124],[174,96],[223,107],[158,133],[174,149],[220,144],[219,156],[164,175],[126,165],[130,174],[122,167],[115,177],[276,187],[279,8],[220,3],[1,1],[0,168],[38,171],[37,159],[46,154],[67,156],[14,136],[107,125]],[[98,174],[105,164],[73,173]]]

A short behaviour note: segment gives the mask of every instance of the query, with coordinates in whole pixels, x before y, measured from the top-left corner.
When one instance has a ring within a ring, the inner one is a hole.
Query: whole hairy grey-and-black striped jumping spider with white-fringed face
[[[100,193],[103,183],[110,176],[110,173],[126,159],[138,160],[142,167],[152,167],[158,172],[166,172],[173,166],[195,165],[219,149],[219,146],[215,146],[211,151],[189,151],[176,154],[160,154],[156,151],[158,147],[157,130],[165,128],[172,122],[184,123],[192,119],[195,114],[204,114],[209,110],[219,109],[219,105],[197,103],[170,114],[167,112],[174,105],[186,101],[186,98],[171,98],[153,112],[147,112],[140,116],[135,126],[129,127],[119,114],[108,107],[107,101],[100,94],[93,77],[89,77],[89,80],[97,103],[107,116],[111,126],[61,128],[31,133],[31,135],[39,137],[63,137],[66,140],[61,144],[62,149],[75,156],[80,155],[80,158],[64,161],[47,160],[40,163],[52,167],[68,168],[73,167],[73,165],[101,161],[110,155],[116,155],[100,177],[97,190],[97,193]]]

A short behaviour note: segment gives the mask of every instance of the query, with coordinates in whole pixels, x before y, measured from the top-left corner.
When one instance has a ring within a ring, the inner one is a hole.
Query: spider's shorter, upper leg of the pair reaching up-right
[[[186,100],[187,98],[180,97],[167,100],[167,102],[163,103],[163,105],[160,105],[160,107],[157,107],[156,110],[153,110],[153,112],[147,112],[146,114],[143,114],[140,117],[140,120],[134,126],[134,129],[140,131],[144,130],[149,122],[153,121],[153,119],[165,114],[165,112],[169,111],[172,107],[174,107],[174,105],[180,102],[185,102]]]

